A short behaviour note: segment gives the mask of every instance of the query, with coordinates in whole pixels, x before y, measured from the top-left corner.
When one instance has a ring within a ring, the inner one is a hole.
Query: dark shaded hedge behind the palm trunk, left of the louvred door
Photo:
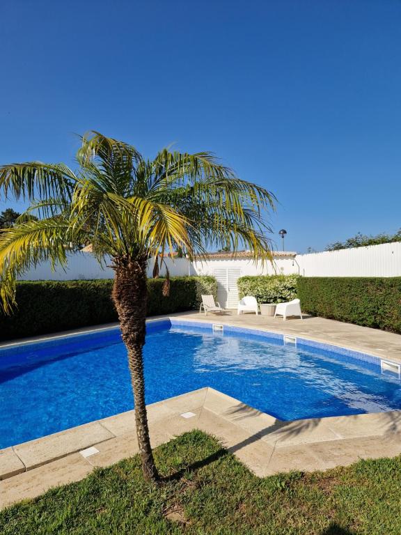
[[[148,316],[191,310],[199,306],[201,293],[217,293],[214,277],[172,277],[168,297],[163,282],[148,280]],[[17,311],[0,313],[0,340],[117,321],[112,287],[111,279],[18,282]]]

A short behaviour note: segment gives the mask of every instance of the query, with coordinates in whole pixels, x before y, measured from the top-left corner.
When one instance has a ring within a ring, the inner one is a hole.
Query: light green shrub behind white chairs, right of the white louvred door
[[[259,275],[237,281],[239,298],[253,295],[259,304],[283,303],[297,297],[298,275]]]

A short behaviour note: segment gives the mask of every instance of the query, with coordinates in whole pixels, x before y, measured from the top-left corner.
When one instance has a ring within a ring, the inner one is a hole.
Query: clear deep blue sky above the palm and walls
[[[401,1],[0,0],[0,20],[0,163],[72,164],[92,129],[175,142],[276,194],[278,247],[401,227]]]

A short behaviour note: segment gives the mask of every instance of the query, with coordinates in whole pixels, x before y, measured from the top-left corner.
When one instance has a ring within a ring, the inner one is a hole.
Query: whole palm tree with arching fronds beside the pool
[[[79,168],[28,162],[0,167],[0,191],[31,203],[17,223],[0,233],[1,301],[15,307],[15,281],[31,265],[67,263],[67,253],[91,244],[111,257],[112,299],[127,346],[134,391],[136,434],[148,480],[158,474],[150,448],[142,349],[146,334],[150,258],[182,248],[189,256],[208,247],[248,247],[267,259],[270,229],[263,211],[274,196],[247,183],[210,153],[162,150],[146,160],[131,145],[90,132],[81,137]],[[165,283],[168,294],[168,281]]]

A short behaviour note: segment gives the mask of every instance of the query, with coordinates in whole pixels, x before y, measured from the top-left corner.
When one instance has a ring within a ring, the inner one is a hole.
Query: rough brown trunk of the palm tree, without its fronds
[[[150,447],[148,417],[145,405],[142,348],[146,334],[147,258],[119,256],[113,258],[116,272],[112,298],[120,320],[121,334],[128,350],[129,373],[135,401],[136,436],[141,455],[143,476],[157,481],[159,474]]]

